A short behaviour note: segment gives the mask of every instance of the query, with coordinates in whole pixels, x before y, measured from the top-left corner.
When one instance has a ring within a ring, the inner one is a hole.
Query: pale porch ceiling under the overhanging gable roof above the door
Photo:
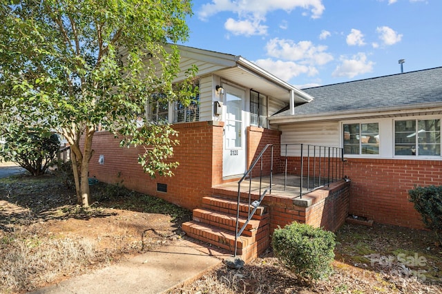
[[[227,81],[235,83],[236,85],[248,87],[261,94],[277,98],[280,101],[286,103],[289,103],[290,101],[290,91],[287,88],[282,87],[282,85],[278,85],[277,83],[270,81],[268,78],[260,76],[245,67],[237,66],[224,68],[223,70],[218,70],[215,74],[221,76]],[[295,103],[305,102],[305,98],[300,98],[295,95]]]

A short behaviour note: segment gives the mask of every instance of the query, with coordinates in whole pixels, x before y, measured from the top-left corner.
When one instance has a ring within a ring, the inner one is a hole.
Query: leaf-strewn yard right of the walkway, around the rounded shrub
[[[169,294],[442,293],[442,247],[434,233],[346,224],[336,235],[334,273],[311,286],[298,281],[269,250],[242,269],[219,266]]]

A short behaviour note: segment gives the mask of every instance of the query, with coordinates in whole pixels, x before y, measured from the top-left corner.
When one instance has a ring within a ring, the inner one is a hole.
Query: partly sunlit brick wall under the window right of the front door
[[[253,160],[255,160],[265,145],[273,144],[273,172],[278,171],[280,160],[280,138],[281,132],[272,129],[263,129],[262,127],[247,127],[247,169],[249,169]],[[262,157],[262,175],[270,174],[271,167],[271,149],[267,149]],[[260,162],[253,169],[252,176],[259,176]]]

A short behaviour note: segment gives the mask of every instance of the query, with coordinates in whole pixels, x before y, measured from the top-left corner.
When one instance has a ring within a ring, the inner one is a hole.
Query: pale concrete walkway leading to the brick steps
[[[178,284],[191,282],[221,262],[203,253],[198,244],[176,240],[130,260],[32,293],[163,293]]]

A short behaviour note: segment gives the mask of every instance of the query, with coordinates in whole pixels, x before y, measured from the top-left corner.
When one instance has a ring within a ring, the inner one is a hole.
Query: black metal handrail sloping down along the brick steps
[[[265,189],[265,191],[261,194],[261,188],[262,188],[262,165],[263,165],[262,157],[264,156],[265,151],[267,151],[267,149],[269,149],[269,147],[271,147],[270,184],[269,184],[269,189]],[[255,200],[255,201],[251,202],[251,171],[258,164],[259,161],[261,162],[261,165],[260,165],[260,198],[258,200]],[[247,211],[247,220],[246,220],[246,222],[242,225],[241,229],[238,231],[239,219],[240,219],[241,183],[242,183],[242,181],[244,181],[247,178],[247,176],[249,176],[249,211]],[[265,194],[267,193],[267,191],[269,191],[269,193],[271,193],[272,179],[273,179],[273,144],[267,144],[262,149],[260,154],[256,157],[256,159],[253,160],[253,162],[251,163],[249,169],[245,172],[244,176],[242,176],[242,178],[238,181],[238,201],[237,201],[237,205],[236,205],[236,230],[235,230],[236,234],[235,234],[235,255],[234,256],[236,256],[236,252],[238,251],[238,244],[237,244],[238,238],[240,237],[240,235],[244,231],[245,227],[247,227],[247,224],[249,223],[249,221],[253,217],[253,214],[255,214],[256,210],[260,206],[260,204],[261,204],[262,200],[264,199]],[[250,211],[250,207],[253,207],[252,211]]]

